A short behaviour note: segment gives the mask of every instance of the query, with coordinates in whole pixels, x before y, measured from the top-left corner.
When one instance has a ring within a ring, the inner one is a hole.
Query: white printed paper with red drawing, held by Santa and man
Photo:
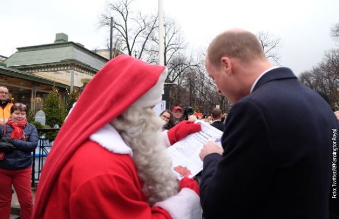
[[[181,180],[183,177],[192,178],[202,170],[202,161],[199,153],[203,145],[208,141],[220,143],[223,132],[210,124],[197,120],[201,125],[201,131],[188,135],[186,138],[175,143],[166,150],[172,158],[173,170],[177,178]]]

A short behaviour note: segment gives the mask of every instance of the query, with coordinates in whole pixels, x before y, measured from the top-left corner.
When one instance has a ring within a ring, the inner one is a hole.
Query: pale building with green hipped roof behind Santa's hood
[[[55,84],[65,100],[74,87],[80,89],[108,61],[68,41],[68,35],[57,33],[54,43],[17,48],[17,52],[0,66],[0,84],[6,85],[14,102],[28,104],[34,112]],[[3,58],[3,59],[2,59]]]

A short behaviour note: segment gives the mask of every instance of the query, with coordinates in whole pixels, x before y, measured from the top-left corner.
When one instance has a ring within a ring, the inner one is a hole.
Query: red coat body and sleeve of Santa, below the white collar
[[[148,205],[129,154],[115,154],[87,141],[61,170],[43,218],[172,217],[162,208]]]

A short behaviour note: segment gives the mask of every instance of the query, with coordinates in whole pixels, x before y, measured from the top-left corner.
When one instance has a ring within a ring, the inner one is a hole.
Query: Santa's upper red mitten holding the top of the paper
[[[171,145],[182,140],[186,136],[192,133],[199,132],[201,130],[201,126],[199,123],[194,123],[194,121],[182,121],[178,123],[176,126],[168,130],[167,136],[168,140],[170,140]]]

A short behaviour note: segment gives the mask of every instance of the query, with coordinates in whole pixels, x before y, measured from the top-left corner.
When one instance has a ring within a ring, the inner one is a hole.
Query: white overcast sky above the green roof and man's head
[[[106,0],[0,0],[0,55],[17,47],[53,43],[64,32],[87,49],[103,49],[109,29],[98,29]],[[156,11],[158,0],[136,0],[141,11]],[[166,16],[181,27],[189,49],[203,49],[220,32],[240,27],[281,38],[280,64],[295,74],[312,69],[335,47],[329,32],[339,22],[338,0],[163,0]]]

